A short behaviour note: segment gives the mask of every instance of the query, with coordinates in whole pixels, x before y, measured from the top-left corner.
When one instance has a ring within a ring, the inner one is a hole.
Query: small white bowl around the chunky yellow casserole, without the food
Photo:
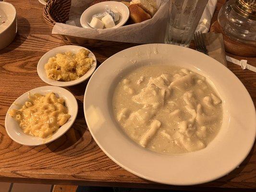
[[[72,53],[77,53],[81,48],[81,46],[75,46],[75,45],[66,45],[66,46],[61,46],[58,48],[54,48],[51,49],[50,51],[48,51],[46,54],[43,55],[43,57],[41,57],[41,59],[38,61],[37,64],[37,73],[39,75],[39,77],[47,84],[53,85],[53,86],[59,86],[59,87],[67,87],[67,86],[73,86],[76,84],[80,84],[82,82],[84,82],[86,79],[88,79],[92,73],[95,71],[96,66],[97,66],[97,60],[95,55],[87,48],[85,48],[86,50],[89,50],[89,57],[92,57],[94,59],[94,62],[91,66],[91,68],[89,69],[88,72],[86,72],[82,77],[80,77],[79,79],[73,80],[73,81],[67,81],[67,82],[62,82],[62,81],[56,81],[53,79],[49,79],[47,77],[47,74],[45,72],[45,64],[48,62],[50,57],[55,57],[57,53],[65,53],[66,51],[71,51]]]

